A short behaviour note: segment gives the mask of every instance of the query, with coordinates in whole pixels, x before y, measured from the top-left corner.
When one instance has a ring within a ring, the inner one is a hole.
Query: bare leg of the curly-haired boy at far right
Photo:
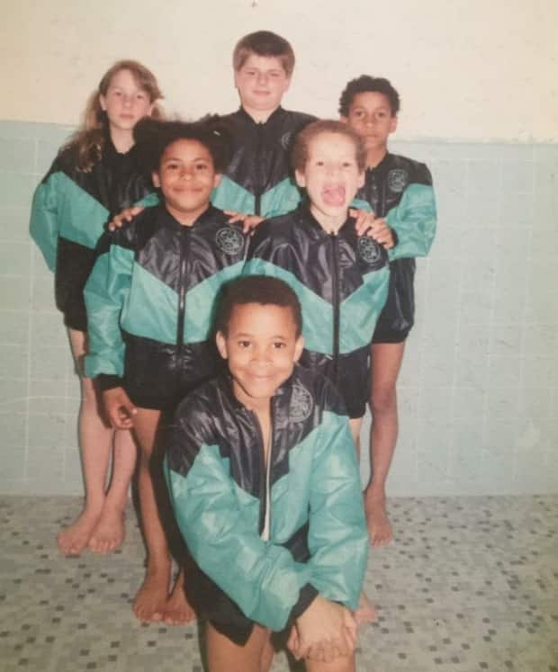
[[[397,377],[405,343],[372,345],[372,430],[370,464],[372,479],[365,489],[365,511],[370,541],[385,546],[393,539],[385,504],[385,482],[397,443]]]

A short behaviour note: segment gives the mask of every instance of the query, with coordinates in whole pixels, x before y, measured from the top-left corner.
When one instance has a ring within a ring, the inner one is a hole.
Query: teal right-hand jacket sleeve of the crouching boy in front
[[[365,578],[368,533],[347,417],[324,411],[311,479],[311,585],[356,609]]]

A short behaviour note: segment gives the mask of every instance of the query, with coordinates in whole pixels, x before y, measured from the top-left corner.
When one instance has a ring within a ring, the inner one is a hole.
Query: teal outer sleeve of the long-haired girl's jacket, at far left
[[[58,248],[58,207],[61,198],[56,162],[49,175],[38,185],[31,204],[30,233],[39,246],[50,271],[56,268]]]

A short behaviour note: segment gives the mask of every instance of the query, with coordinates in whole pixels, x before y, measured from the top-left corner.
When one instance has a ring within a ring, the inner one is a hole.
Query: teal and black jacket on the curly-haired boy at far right
[[[353,204],[372,209],[395,231],[397,245],[388,252],[390,291],[374,343],[401,342],[415,319],[414,257],[428,255],[436,233],[432,176],[424,164],[388,153],[378,166],[366,171],[365,186]]]

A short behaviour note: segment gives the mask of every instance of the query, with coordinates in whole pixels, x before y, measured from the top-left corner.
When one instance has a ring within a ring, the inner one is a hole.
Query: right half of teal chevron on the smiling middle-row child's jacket
[[[184,343],[199,343],[211,336],[217,294],[223,284],[234,280],[242,273],[243,266],[244,261],[230,264],[188,291],[184,316]]]

